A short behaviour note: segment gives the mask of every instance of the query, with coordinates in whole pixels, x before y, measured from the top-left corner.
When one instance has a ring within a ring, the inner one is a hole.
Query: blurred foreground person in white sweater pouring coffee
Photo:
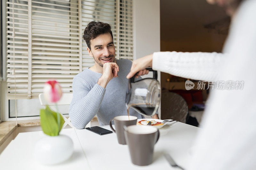
[[[256,169],[256,0],[208,1],[232,15],[223,53],[157,52],[133,61],[127,78],[152,66],[195,80],[244,81],[242,90],[212,90],[187,169]]]

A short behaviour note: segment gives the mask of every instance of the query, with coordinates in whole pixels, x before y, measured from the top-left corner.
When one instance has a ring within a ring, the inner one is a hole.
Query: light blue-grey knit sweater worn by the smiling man
[[[71,123],[77,129],[83,129],[97,115],[100,125],[108,125],[109,121],[121,115],[127,115],[125,105],[126,88],[132,61],[116,60],[119,66],[118,77],[108,82],[106,89],[97,84],[102,74],[88,68],[73,79],[73,98],[69,107]],[[138,119],[144,118],[130,108],[129,114]]]

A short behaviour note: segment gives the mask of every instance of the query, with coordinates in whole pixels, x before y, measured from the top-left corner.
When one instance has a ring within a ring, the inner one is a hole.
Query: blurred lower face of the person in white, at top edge
[[[224,7],[227,14],[232,16],[236,11],[237,6],[242,0],[206,0],[209,4],[218,4]]]

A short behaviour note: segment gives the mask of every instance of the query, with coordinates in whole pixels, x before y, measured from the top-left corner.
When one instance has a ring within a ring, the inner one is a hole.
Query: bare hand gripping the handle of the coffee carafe
[[[149,71],[146,70],[145,68],[152,67],[152,60],[153,60],[153,54],[147,55],[138,60],[134,60],[132,62],[131,71],[126,76],[126,78],[130,79],[137,72],[139,72],[139,73],[135,75],[135,78],[138,78],[140,75],[148,74]]]

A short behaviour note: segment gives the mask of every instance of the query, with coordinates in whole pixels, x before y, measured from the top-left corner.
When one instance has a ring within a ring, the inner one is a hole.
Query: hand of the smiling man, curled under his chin
[[[119,67],[116,63],[105,63],[103,65],[102,76],[99,78],[97,84],[99,84],[104,89],[106,88],[108,82],[114,77],[118,77],[117,72]]]

